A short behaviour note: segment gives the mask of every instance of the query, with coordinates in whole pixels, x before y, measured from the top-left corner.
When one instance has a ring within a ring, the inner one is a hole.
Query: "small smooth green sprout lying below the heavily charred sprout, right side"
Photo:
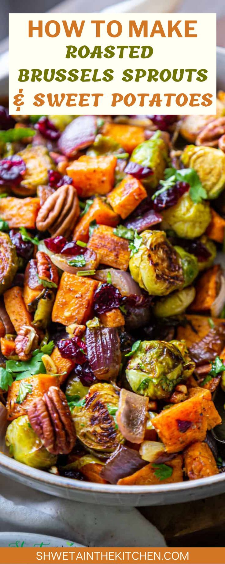
[[[164,318],[182,314],[195,298],[194,286],[177,290],[169,296],[159,299],[154,306],[156,317]]]

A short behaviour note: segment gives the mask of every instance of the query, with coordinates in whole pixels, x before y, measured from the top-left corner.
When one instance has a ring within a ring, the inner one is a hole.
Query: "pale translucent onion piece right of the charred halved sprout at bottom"
[[[142,443],[145,436],[147,407],[149,398],[120,390],[116,422],[125,439],[131,443]]]

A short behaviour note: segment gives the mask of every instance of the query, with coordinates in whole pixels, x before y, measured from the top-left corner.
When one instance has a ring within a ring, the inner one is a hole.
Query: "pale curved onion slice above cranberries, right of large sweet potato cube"
[[[104,268],[103,270],[97,270],[95,278],[102,282],[107,282],[109,273],[111,275],[111,284],[118,288],[122,296],[130,296],[131,294],[141,296],[140,286],[134,282],[129,272],[117,270],[116,268]]]

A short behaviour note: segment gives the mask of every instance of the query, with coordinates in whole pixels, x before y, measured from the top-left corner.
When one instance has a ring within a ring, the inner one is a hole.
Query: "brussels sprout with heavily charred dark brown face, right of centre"
[[[142,243],[129,261],[133,279],[153,296],[166,296],[182,288],[182,262],[164,231],[143,231]]]

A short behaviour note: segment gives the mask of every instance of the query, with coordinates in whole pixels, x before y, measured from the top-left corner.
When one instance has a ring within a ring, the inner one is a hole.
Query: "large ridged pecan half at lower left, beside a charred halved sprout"
[[[28,418],[48,452],[71,452],[76,433],[66,396],[59,388],[51,386],[43,398],[35,399],[28,409]]]

